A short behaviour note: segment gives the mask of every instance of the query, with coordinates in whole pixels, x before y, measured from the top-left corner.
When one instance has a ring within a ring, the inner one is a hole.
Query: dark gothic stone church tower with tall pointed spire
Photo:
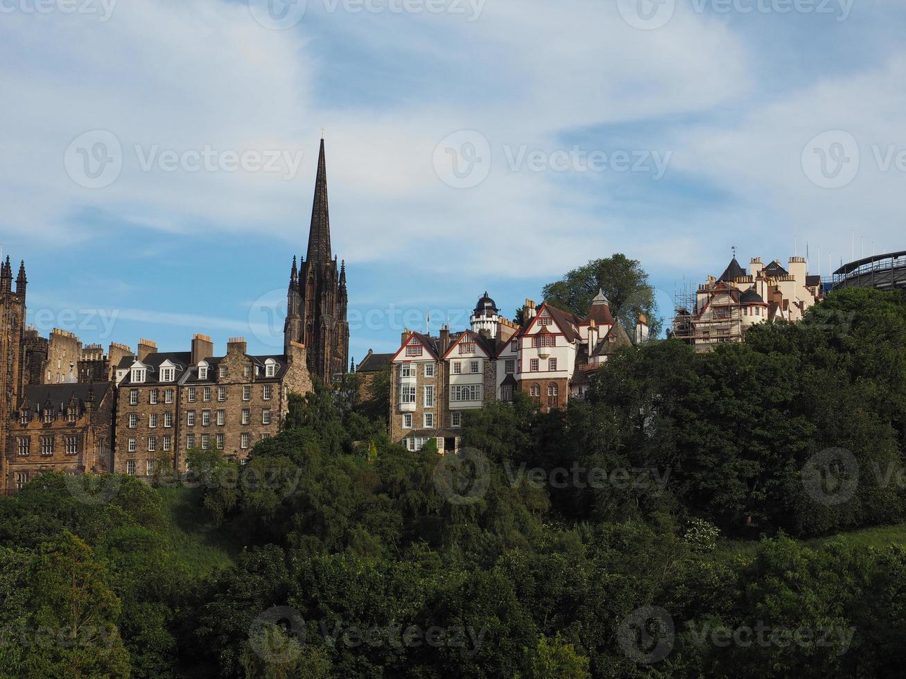
[[[287,295],[284,351],[292,341],[308,349],[312,377],[331,384],[349,368],[349,323],[346,320],[346,264],[337,266],[331,253],[331,223],[327,206],[327,164],[324,140],[314,183],[308,253],[300,265],[293,258]]]

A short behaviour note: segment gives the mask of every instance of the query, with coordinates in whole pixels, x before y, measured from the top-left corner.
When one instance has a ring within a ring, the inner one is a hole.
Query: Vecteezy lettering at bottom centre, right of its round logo
[[[321,634],[327,646],[342,644],[349,648],[371,646],[371,648],[464,648],[469,657],[481,650],[487,635],[487,628],[479,630],[472,626],[429,626],[403,625],[391,622],[385,626],[343,626],[340,620],[333,623],[333,629],[326,622],[320,623]]]

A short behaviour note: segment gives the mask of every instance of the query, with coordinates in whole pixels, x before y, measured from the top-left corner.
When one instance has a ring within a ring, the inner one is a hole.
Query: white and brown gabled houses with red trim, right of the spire
[[[545,411],[582,398],[588,375],[619,347],[632,343],[603,294],[585,318],[525,300],[523,324],[501,317],[487,292],[470,330],[438,337],[406,330],[390,359],[390,436],[410,450],[435,439],[440,452],[458,448],[462,415],[489,401],[523,392]],[[648,339],[642,315],[635,341]]]

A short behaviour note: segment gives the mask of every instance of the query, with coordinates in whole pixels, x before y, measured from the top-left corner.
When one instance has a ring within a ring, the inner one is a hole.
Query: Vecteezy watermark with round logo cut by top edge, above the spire
[[[302,22],[309,2],[325,14],[449,14],[475,22],[486,0],[248,0],[255,21],[284,31]]]

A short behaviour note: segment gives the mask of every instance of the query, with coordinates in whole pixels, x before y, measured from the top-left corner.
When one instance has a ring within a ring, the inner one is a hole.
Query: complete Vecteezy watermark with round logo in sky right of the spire
[[[493,163],[487,137],[475,129],[461,129],[441,139],[434,148],[433,165],[440,180],[453,188],[471,188],[487,179]],[[510,172],[638,172],[660,180],[670,167],[673,151],[651,148],[601,149],[530,148],[504,144],[500,157]]]

